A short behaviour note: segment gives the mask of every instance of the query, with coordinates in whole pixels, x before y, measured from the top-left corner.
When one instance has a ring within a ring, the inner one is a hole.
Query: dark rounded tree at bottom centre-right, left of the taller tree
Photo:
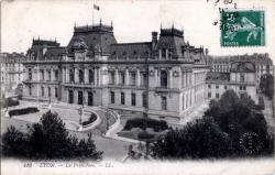
[[[189,122],[182,130],[170,130],[151,146],[155,158],[211,158],[228,154],[228,134],[211,118]]]

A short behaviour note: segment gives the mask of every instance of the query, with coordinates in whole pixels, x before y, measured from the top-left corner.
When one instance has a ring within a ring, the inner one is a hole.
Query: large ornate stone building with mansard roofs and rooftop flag
[[[206,56],[174,26],[139,43],[118,43],[113,26],[101,22],[75,26],[66,47],[33,40],[24,98],[180,119],[205,101]]]

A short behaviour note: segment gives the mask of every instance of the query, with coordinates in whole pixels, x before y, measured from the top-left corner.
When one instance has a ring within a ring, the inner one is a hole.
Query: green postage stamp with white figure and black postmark
[[[221,46],[264,46],[264,11],[221,11]]]

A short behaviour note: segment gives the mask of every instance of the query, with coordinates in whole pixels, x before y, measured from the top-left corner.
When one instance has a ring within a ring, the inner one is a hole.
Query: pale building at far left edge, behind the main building
[[[1,95],[14,94],[18,86],[23,81],[23,53],[1,53]]]

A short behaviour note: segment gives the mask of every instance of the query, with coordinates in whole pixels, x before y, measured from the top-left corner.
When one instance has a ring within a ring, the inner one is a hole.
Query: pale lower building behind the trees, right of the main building
[[[252,62],[231,63],[229,73],[208,73],[206,84],[208,99],[219,99],[224,91],[232,89],[240,98],[248,94],[258,102],[256,69]]]

